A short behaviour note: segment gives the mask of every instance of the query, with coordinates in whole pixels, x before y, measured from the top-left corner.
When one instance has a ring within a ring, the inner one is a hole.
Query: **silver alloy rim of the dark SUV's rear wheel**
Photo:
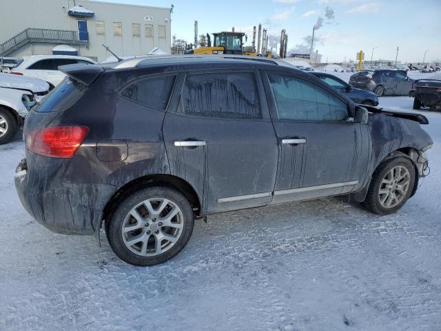
[[[121,227],[125,247],[141,257],[154,257],[170,250],[181,237],[184,216],[169,199],[152,198],[127,213]]]

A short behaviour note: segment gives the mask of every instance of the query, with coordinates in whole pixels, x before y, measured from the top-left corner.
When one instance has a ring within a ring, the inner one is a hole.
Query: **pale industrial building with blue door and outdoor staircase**
[[[2,0],[0,56],[78,54],[103,61],[170,53],[171,10],[91,0]],[[147,1],[146,1],[147,2]]]

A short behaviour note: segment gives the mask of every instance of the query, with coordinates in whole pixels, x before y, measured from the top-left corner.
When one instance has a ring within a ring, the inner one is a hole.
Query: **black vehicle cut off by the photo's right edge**
[[[441,81],[437,79],[418,79],[412,85],[411,96],[413,109],[429,107],[430,109],[441,108]]]

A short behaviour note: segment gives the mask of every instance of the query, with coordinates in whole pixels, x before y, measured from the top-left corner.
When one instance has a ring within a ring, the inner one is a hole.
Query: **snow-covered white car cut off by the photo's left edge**
[[[0,145],[23,126],[28,111],[49,92],[41,79],[0,73]]]

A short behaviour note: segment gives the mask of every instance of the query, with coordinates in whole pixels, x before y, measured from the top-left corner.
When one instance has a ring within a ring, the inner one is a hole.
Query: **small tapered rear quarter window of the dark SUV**
[[[175,76],[154,77],[135,81],[121,92],[121,96],[145,107],[165,110],[174,86]]]

